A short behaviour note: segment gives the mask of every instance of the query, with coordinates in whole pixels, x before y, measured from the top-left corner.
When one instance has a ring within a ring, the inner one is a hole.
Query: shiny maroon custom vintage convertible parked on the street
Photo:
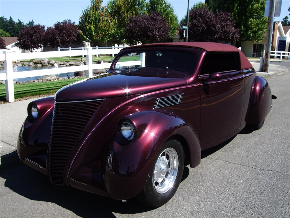
[[[236,47],[127,47],[106,77],[29,103],[17,152],[52,184],[156,207],[175,194],[185,158],[196,167],[202,150],[261,128],[271,106],[267,81]]]

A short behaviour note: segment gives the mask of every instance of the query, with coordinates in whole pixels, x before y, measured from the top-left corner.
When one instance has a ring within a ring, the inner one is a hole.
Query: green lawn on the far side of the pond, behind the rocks
[[[55,57],[55,58],[47,58],[48,60],[55,60],[55,61],[81,61],[81,56],[72,56],[72,57]],[[111,59],[114,59],[115,57],[112,56],[99,56],[99,57],[95,57],[93,61],[98,61],[100,59],[104,59],[105,62],[109,62]],[[126,59],[126,60],[124,60]],[[139,56],[126,56],[126,57],[122,57],[122,61],[131,61],[131,60],[140,60]],[[82,58],[83,61],[86,60],[86,57]],[[30,62],[30,60],[21,60],[21,62]]]

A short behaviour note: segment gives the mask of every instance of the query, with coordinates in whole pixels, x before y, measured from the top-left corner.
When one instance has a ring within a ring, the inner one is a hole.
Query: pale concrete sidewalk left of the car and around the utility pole
[[[259,69],[259,63],[251,62],[251,64],[255,69]],[[270,73],[257,72],[257,75],[267,78],[280,73],[289,73],[289,69],[271,63],[269,72]],[[16,152],[17,137],[19,135],[21,125],[27,116],[27,105],[35,99],[37,98],[0,105],[0,169],[5,169],[20,162]]]

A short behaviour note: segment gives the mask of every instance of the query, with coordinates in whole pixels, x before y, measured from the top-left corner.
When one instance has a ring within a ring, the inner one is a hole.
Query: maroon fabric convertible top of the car
[[[193,47],[203,49],[208,52],[239,52],[240,53],[240,61],[241,61],[241,69],[250,69],[253,67],[247,57],[240,51],[238,48],[232,45],[216,43],[216,42],[165,42],[165,43],[153,43],[153,44],[145,44],[145,45],[137,45],[134,48],[138,47],[152,47],[152,46],[179,46],[179,47]],[[124,49],[129,49],[132,47],[127,47]]]

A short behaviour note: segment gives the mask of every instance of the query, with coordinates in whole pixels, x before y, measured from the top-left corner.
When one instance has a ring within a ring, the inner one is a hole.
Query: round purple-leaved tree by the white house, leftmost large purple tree
[[[34,52],[43,45],[43,38],[45,29],[43,25],[35,25],[30,27],[23,27],[17,38],[18,42],[15,45],[20,49],[25,49]]]

